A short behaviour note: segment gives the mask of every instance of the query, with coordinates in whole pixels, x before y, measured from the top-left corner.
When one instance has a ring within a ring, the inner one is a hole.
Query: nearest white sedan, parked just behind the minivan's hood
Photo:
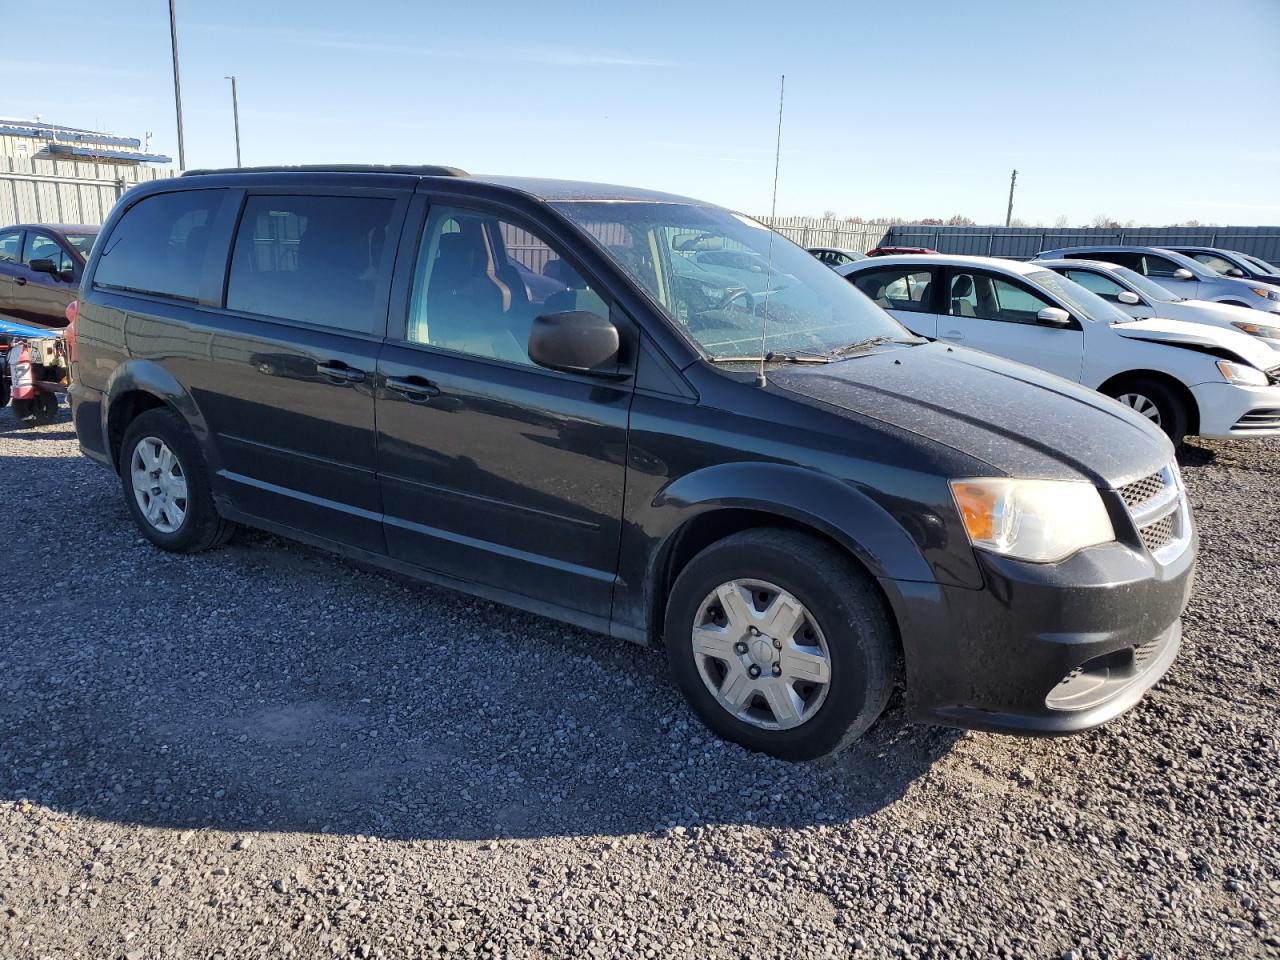
[[[1134,320],[1038,262],[915,256],[838,273],[913,333],[1082,383],[1174,443],[1187,434],[1280,435],[1280,357],[1244,333]]]

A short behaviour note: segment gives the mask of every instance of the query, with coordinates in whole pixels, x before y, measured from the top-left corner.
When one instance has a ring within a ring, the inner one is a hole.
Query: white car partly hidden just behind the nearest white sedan
[[[1280,351],[1280,317],[1268,324],[1266,317],[1248,307],[1231,303],[1212,303],[1207,300],[1185,300],[1170,293],[1155,280],[1134,273],[1128,266],[1102,260],[1033,260],[1053,273],[1097,293],[1102,300],[1119,307],[1132,317],[1149,316],[1167,320],[1187,320],[1197,324],[1242,330],[1257,337],[1272,349]]]

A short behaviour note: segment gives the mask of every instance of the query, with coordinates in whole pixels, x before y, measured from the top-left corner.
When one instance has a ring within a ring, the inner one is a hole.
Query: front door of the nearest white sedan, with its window
[[[1069,380],[1080,379],[1084,330],[1043,326],[1037,314],[1056,307],[1029,284],[987,270],[948,270],[947,315],[938,320],[938,337],[965,347],[1009,357]]]

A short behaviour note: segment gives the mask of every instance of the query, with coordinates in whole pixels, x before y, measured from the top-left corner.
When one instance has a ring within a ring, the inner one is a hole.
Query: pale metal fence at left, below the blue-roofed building
[[[173,170],[0,157],[0,227],[12,223],[99,224],[129,187],[165,177],[173,177]]]

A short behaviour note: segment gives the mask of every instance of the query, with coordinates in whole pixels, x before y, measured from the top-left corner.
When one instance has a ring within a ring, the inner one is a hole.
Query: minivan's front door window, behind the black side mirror
[[[433,207],[407,340],[531,365],[534,317],[563,310],[609,315],[600,294],[538,234],[489,214]]]

